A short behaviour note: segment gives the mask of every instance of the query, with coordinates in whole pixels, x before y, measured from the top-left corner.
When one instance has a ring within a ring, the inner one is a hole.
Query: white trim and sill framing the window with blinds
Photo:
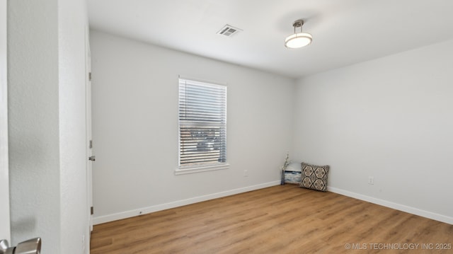
[[[194,79],[193,77],[187,77],[187,76],[178,76],[178,93],[179,93],[179,83],[180,80],[187,80],[187,81],[192,81],[194,83],[206,83],[207,85],[214,85],[214,86],[226,86],[226,83],[219,83],[217,81],[207,81],[204,79]],[[227,93],[228,89],[225,91],[225,100],[227,100]],[[180,103],[180,98],[178,96],[178,168],[175,170],[175,175],[184,175],[184,174],[190,174],[190,173],[200,173],[200,172],[206,172],[206,171],[218,171],[218,170],[224,170],[229,168],[229,163],[228,161],[225,161],[223,163],[216,163],[212,165],[194,165],[194,166],[180,166],[180,120],[179,120],[179,103]],[[225,105],[225,121],[227,118],[227,103]],[[226,128],[226,125],[225,125]],[[225,140],[226,142],[226,140]],[[225,143],[225,149],[226,149],[226,143]]]

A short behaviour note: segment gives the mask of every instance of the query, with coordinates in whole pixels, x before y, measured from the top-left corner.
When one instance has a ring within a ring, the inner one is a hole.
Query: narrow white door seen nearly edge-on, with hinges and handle
[[[91,51],[89,42],[89,28],[85,33],[85,50],[86,50],[86,184],[88,193],[88,207],[93,207],[93,137],[91,134]],[[93,213],[89,209],[88,224],[90,232],[93,231]],[[90,234],[88,234],[90,235]],[[89,241],[89,239],[88,239]]]

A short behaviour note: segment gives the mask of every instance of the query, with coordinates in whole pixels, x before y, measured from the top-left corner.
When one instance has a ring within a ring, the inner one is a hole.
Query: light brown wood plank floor
[[[91,236],[91,254],[415,254],[453,253],[452,245],[453,225],[297,185],[100,224]]]

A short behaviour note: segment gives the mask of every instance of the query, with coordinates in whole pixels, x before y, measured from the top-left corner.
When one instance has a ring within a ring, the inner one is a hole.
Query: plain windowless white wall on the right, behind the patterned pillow
[[[334,192],[453,224],[452,49],[450,40],[297,81],[295,157],[329,164]]]

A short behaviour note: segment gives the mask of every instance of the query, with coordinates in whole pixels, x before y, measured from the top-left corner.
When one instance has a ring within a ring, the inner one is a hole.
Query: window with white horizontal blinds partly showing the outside
[[[226,86],[179,79],[179,170],[226,166]]]

